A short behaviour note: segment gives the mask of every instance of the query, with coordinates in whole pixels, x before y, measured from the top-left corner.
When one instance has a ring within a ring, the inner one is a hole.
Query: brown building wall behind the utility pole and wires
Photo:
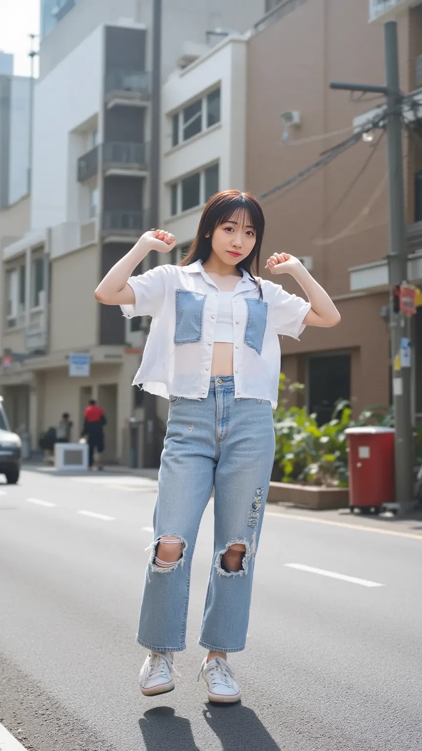
[[[300,172],[350,136],[354,119],[375,106],[351,101],[348,93],[332,91],[329,84],[384,83],[382,24],[368,23],[377,3],[379,11],[381,0],[283,0],[272,3],[272,10],[255,26],[248,50],[246,116],[246,184],[255,195]],[[389,8],[400,5],[405,8],[398,17],[402,90],[413,92],[422,86],[422,4],[414,2],[409,8],[408,2],[389,0]],[[296,113],[297,124],[285,125],[283,113]],[[309,328],[300,342],[282,342],[283,371],[306,384],[307,406],[324,419],[339,397],[351,399],[356,413],[365,406],[390,403],[389,330],[381,318],[388,303],[387,163],[385,137],[376,146],[379,134],[375,131],[371,143],[361,140],[306,181],[263,201],[264,261],[274,250],[304,258],[342,315],[339,327]],[[412,254],[408,280],[420,285],[422,140],[416,133],[405,134],[403,141]],[[286,287],[297,291],[292,280]],[[412,369],[413,411],[419,420],[421,312],[414,321]]]

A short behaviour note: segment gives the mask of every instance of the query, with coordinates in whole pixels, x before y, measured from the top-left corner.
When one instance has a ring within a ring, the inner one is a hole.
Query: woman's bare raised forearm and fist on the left
[[[140,237],[136,245],[114,264],[95,290],[95,300],[104,305],[133,305],[134,291],[128,279],[150,250],[168,253],[176,245],[173,235],[163,230],[151,230]]]

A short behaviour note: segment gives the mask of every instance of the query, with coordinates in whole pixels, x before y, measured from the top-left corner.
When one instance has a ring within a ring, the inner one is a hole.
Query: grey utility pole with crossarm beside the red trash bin
[[[405,201],[402,156],[402,94],[399,87],[399,57],[396,21],[384,24],[385,86],[355,83],[331,83],[331,89],[378,93],[387,98],[387,131],[390,249],[388,271],[390,285],[390,346],[395,423],[396,504],[400,513],[410,510],[413,493],[413,438],[411,426],[411,368],[401,361],[402,339],[411,339],[407,316],[396,313],[393,288],[407,281],[408,244],[405,225]],[[408,363],[406,363],[408,365]]]

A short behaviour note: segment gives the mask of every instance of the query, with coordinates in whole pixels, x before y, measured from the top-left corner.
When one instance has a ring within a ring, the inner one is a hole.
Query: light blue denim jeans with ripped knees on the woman
[[[232,376],[212,379],[206,399],[170,397],[137,633],[143,647],[155,652],[185,649],[192,554],[214,487],[214,555],[199,644],[216,652],[245,649],[274,451],[270,402],[235,400]],[[182,541],[182,557],[170,569],[155,565],[155,548],[164,536]],[[232,544],[246,547],[242,569],[236,572],[222,567]]]

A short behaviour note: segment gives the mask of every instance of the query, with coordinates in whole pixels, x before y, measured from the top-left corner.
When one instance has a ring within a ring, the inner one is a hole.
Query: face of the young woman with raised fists
[[[211,240],[213,252],[221,261],[233,267],[248,257],[255,242],[255,229],[246,212],[237,212],[227,222],[218,225]]]

